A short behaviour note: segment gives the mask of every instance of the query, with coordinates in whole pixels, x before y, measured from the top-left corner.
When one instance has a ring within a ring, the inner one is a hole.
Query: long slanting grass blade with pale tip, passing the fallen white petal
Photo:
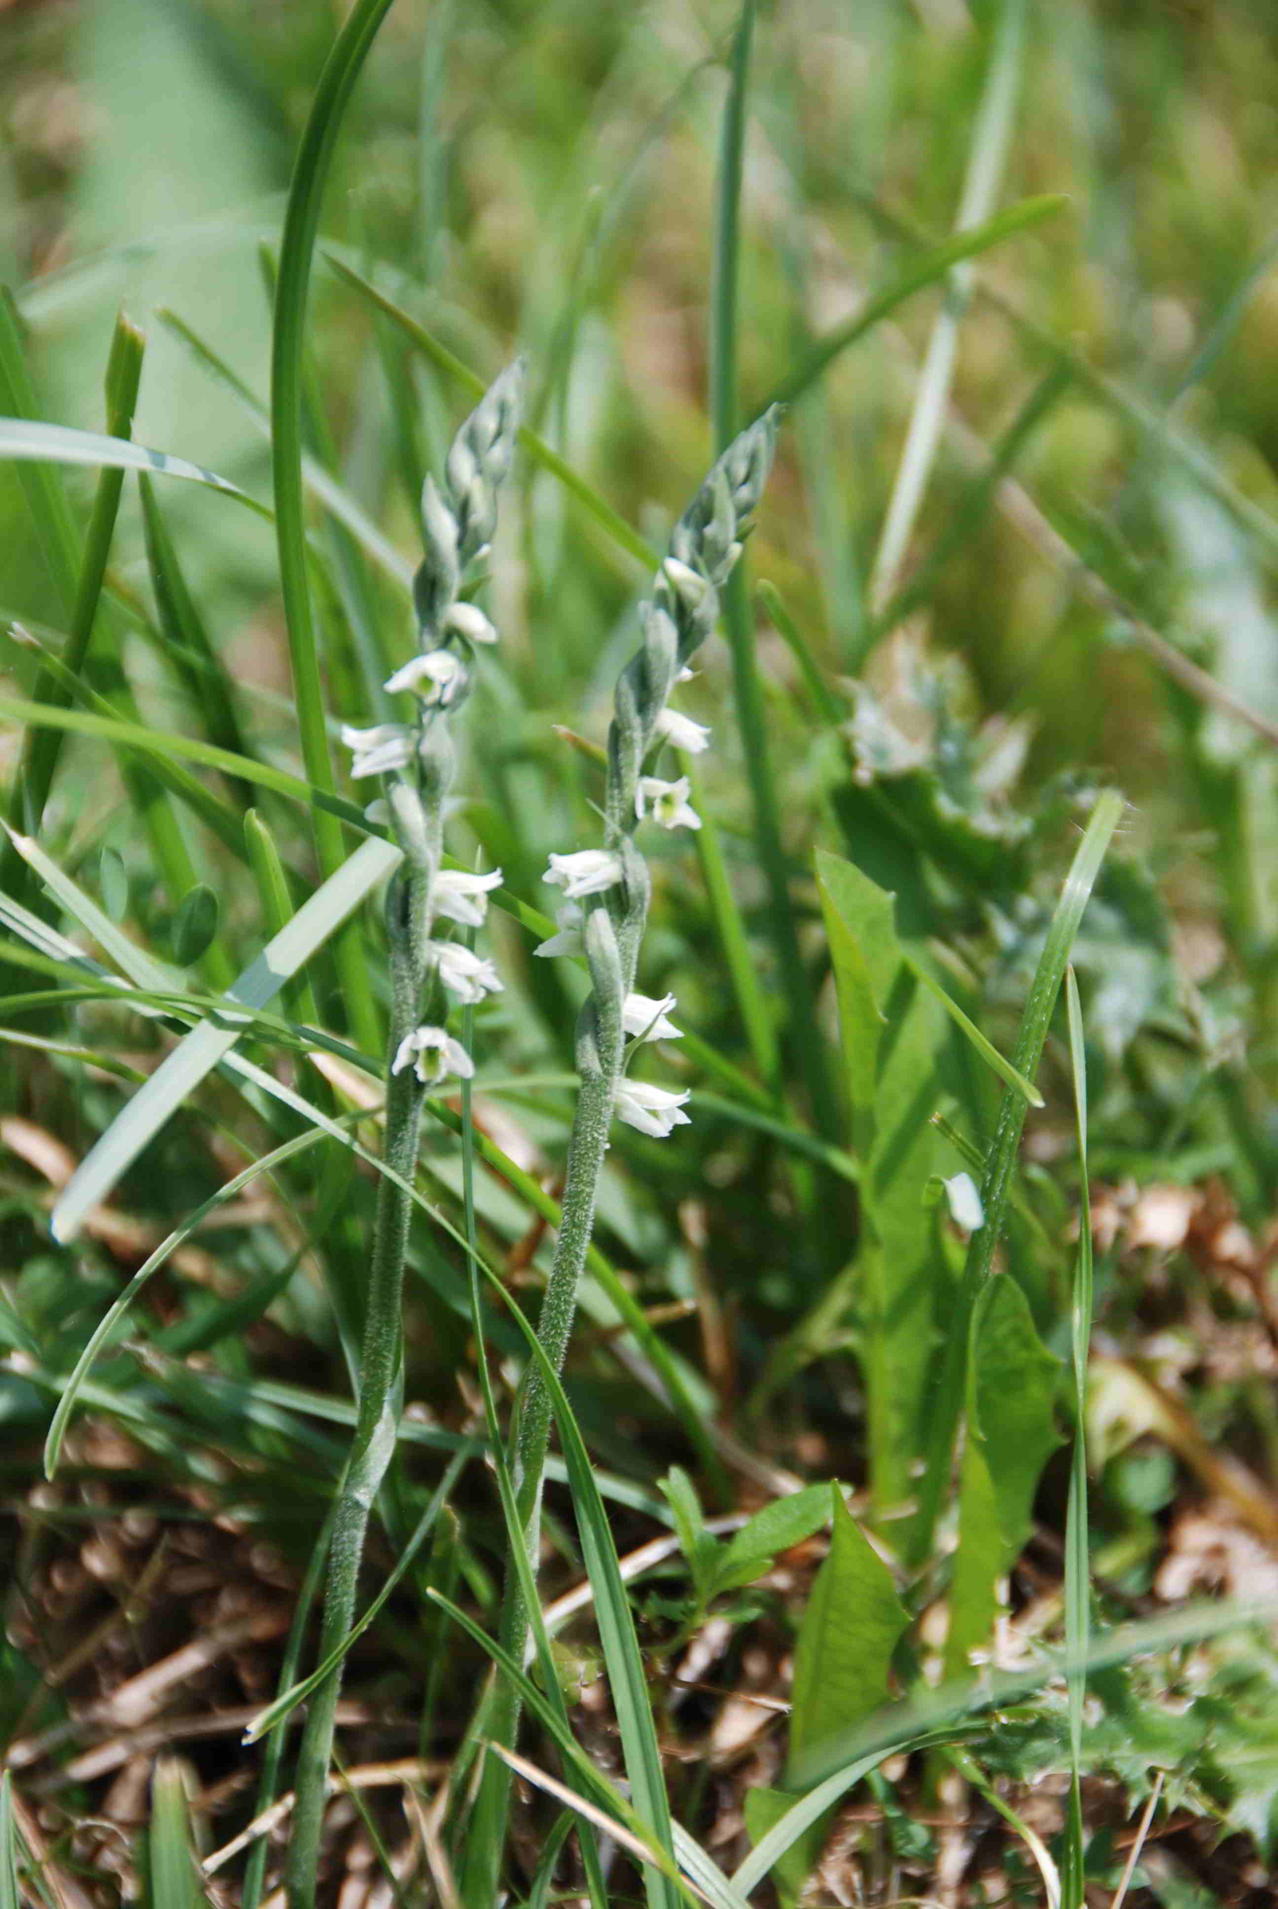
[[[1121,813],[1121,796],[1114,790],[1106,790],[1091,813],[1083,840],[1074,855],[1070,874],[1066,876],[1056,913],[1053,914],[1047,930],[1043,953],[1039,956],[1039,964],[1030,985],[1030,996],[1020,1019],[1016,1050],[1012,1054],[1012,1065],[1028,1080],[1032,1080],[1037,1073],[1043,1042],[1047,1040],[1047,1027],[1060,993],[1066,964],[1070,960],[1070,949],[1074,947],[1074,937],[1083,920],[1083,909],[1087,907],[1087,899],[1100,872],[1100,863],[1104,861]],[[972,1241],[969,1245],[967,1266],[963,1269],[963,1281],[955,1296],[949,1332],[946,1338],[940,1384],[930,1403],[927,1464],[919,1483],[919,1510],[909,1541],[909,1556],[913,1563],[923,1563],[932,1548],[932,1533],[936,1529],[936,1518],[940,1514],[946,1483],[949,1479],[953,1441],[963,1413],[969,1332],[976,1300],[993,1271],[993,1256],[1003,1233],[1007,1197],[1012,1172],[1016,1168],[1016,1153],[1020,1147],[1024,1121],[1026,1101],[1018,1092],[1009,1088],[1003,1094],[993,1143],[990,1147],[986,1172],[980,1184],[986,1224],[972,1233]]]

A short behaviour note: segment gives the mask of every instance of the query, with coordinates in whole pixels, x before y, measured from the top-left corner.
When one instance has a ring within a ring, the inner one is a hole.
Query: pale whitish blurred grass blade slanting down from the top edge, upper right
[[[1003,179],[1016,94],[1020,90],[1024,13],[1026,0],[1003,0],[993,46],[990,48],[986,84],[976,111],[967,178],[963,179],[959,231],[980,225],[982,220],[990,218]],[[879,550],[869,573],[869,609],[875,617],[896,588],[919,506],[923,504],[923,493],[932,472],[932,460],[936,458],[936,447],[940,445],[959,349],[959,325],[970,296],[970,263],[953,269],[946,300],[932,325],[902,462],[896,472]]]

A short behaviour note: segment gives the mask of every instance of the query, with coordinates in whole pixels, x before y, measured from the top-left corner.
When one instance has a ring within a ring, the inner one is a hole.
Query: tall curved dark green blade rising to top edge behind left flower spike
[[[306,298],[332,147],[359,71],[390,6],[392,0],[355,0],[319,76],[288,187],[279,254],[275,325],[271,330],[271,466],[275,477],[279,578],[288,624],[288,661],[298,701],[302,762],[306,764],[308,779],[325,794],[334,794],[334,781],[306,575],[306,512],[302,502],[302,351]],[[315,851],[321,874],[327,878],[334,876],[346,850],[336,819],[323,809],[315,811]],[[376,1054],[380,1048],[380,1014],[369,985],[363,941],[355,920],[348,922],[336,937],[334,954],[351,1031],[361,1048]],[[311,1896],[308,1896],[308,1901]]]

